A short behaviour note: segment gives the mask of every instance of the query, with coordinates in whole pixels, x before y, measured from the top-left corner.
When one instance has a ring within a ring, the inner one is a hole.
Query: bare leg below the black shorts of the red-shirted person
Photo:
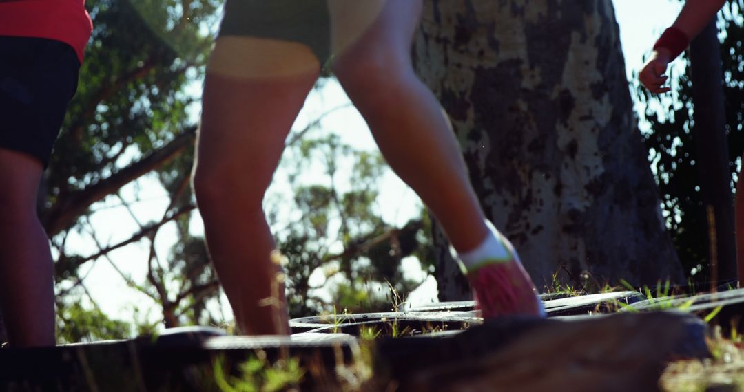
[[[54,346],[54,270],[36,215],[42,164],[0,148],[0,306],[10,344]]]

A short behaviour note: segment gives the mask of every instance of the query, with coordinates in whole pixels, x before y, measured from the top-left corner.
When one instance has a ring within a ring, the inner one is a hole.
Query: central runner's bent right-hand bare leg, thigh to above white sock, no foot
[[[365,13],[359,13],[359,3],[366,4]],[[488,229],[457,140],[411,65],[421,1],[330,0],[329,5],[339,53],[334,71],[385,159],[429,206],[455,249],[478,246]]]

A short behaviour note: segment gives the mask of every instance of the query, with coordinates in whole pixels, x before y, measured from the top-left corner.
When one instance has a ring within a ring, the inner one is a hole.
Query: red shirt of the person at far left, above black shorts
[[[85,0],[0,0],[0,36],[54,39],[83,62],[93,24]]]

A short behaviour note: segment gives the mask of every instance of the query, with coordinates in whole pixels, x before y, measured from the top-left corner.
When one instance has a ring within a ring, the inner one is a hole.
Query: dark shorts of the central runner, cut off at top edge
[[[226,0],[219,36],[299,42],[325,64],[330,58],[327,0]]]

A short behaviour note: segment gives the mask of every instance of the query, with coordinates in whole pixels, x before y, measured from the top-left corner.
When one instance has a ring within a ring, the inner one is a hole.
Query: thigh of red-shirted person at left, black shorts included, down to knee
[[[39,177],[77,89],[80,63],[62,42],[9,36],[0,36],[0,59],[0,207],[35,216]]]

